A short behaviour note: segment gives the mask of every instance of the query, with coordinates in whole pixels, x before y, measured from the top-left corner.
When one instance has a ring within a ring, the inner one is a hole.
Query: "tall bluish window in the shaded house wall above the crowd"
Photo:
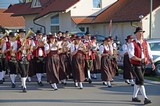
[[[59,31],[59,15],[51,17],[51,33],[57,33]]]

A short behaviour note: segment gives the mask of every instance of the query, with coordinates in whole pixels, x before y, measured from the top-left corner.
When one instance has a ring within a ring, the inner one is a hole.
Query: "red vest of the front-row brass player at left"
[[[27,40],[27,43],[29,44],[29,41]],[[22,45],[21,45],[21,41],[18,39],[17,40],[17,50],[21,47]],[[17,53],[16,53],[16,59],[17,60],[21,60],[22,59],[22,52],[21,51],[18,51]],[[30,60],[31,59],[31,56],[30,56],[30,54],[29,54],[29,51],[27,51],[27,59],[28,60]]]

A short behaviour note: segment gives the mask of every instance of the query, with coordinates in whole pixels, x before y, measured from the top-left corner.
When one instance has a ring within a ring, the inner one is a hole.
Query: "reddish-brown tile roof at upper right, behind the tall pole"
[[[153,10],[160,6],[160,0],[153,0]],[[140,21],[139,16],[150,13],[150,0],[118,0],[99,14],[95,23]]]

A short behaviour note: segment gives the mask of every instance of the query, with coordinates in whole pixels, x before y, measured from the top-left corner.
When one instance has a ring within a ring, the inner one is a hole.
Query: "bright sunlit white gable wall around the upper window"
[[[71,16],[96,16],[117,0],[102,0],[102,8],[93,8],[93,0],[81,0],[71,11]],[[77,12],[78,11],[78,12]]]

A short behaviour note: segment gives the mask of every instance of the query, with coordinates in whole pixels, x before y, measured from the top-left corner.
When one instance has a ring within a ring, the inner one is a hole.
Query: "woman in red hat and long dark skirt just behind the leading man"
[[[132,67],[131,67],[131,63],[129,60],[129,56],[128,56],[128,45],[132,42],[133,37],[132,35],[128,35],[126,43],[123,44],[122,46],[122,50],[124,51],[124,60],[123,60],[123,78],[125,79],[125,82],[127,84],[131,84],[131,86],[134,86],[134,81],[133,81],[133,72],[132,72]]]

